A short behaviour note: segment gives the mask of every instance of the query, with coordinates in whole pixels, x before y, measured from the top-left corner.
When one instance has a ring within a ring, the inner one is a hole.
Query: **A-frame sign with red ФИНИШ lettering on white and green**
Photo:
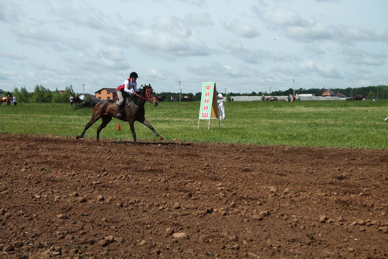
[[[218,127],[220,127],[216,83],[204,82],[202,84],[201,106],[199,107],[198,129],[200,120],[209,120],[208,129],[210,129],[210,119],[218,119]]]

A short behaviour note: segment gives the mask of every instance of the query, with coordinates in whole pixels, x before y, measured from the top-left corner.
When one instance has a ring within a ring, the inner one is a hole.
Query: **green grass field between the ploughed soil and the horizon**
[[[199,102],[145,104],[145,117],[165,140],[184,142],[247,143],[307,147],[388,148],[388,100],[225,102],[226,120],[201,120]],[[92,109],[73,110],[66,104],[18,103],[0,106],[0,133],[80,135]],[[121,130],[116,130],[120,123]],[[95,138],[96,122],[85,134]],[[158,140],[143,124],[135,122],[138,140]],[[127,122],[113,119],[100,138],[132,140]]]

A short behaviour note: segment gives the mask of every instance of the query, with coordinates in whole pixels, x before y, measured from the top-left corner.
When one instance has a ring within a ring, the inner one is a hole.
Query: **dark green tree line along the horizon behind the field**
[[[373,95],[380,99],[388,99],[388,86],[386,85],[378,85],[378,86],[363,86],[363,87],[348,87],[348,88],[330,88],[334,93],[342,93],[347,97],[353,97],[353,95],[366,95],[368,98],[372,98]],[[324,89],[322,88],[310,88],[310,89],[295,89],[295,94],[315,94],[315,96],[320,96],[323,93]],[[264,93],[265,96],[281,96],[293,94],[294,89],[289,88],[285,91],[271,91],[271,93],[267,92],[251,92],[251,93],[227,93],[226,96],[261,96]],[[75,93],[73,90],[73,86],[66,86],[63,93],[59,92],[57,88],[55,91],[50,91],[42,85],[35,85],[33,92],[28,92],[26,87],[21,87],[19,90],[15,87],[14,91],[7,92],[7,95],[16,96],[17,101],[20,103],[67,103],[69,102],[70,95],[78,95],[80,93]],[[179,100],[180,96],[187,96],[193,93],[172,93],[172,92],[160,92],[157,93],[157,96],[166,96],[166,100],[170,101],[171,96],[174,100]],[[201,100],[201,92],[198,92],[194,95],[194,101]],[[85,101],[88,101],[88,98],[85,98]]]

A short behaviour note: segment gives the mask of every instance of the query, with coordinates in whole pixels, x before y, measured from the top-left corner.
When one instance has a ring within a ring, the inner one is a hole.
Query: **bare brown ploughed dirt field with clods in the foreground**
[[[1,258],[388,256],[388,150],[0,140]]]

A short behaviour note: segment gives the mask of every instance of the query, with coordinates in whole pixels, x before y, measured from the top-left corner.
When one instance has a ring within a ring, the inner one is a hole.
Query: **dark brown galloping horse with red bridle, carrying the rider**
[[[83,138],[83,135],[87,131],[90,126],[94,124],[94,122],[98,121],[100,118],[102,119],[102,123],[97,128],[97,142],[99,141],[100,131],[105,128],[105,126],[112,120],[113,117],[119,119],[121,121],[128,121],[129,126],[132,131],[132,136],[134,143],[136,144],[136,133],[133,123],[135,121],[139,121],[147,126],[152,132],[158,137],[160,140],[163,140],[163,137],[159,135],[158,132],[148,123],[148,121],[144,118],[144,104],[146,101],[152,102],[154,106],[158,105],[158,101],[156,100],[155,92],[152,90],[151,85],[142,86],[139,90],[137,90],[130,100],[126,103],[126,107],[123,110],[123,115],[117,117],[118,105],[114,100],[103,100],[103,101],[88,101],[81,105],[78,105],[74,108],[74,110],[82,109],[82,108],[93,108],[92,119],[86,124],[85,129],[81,133],[81,135],[77,136],[76,139]]]

